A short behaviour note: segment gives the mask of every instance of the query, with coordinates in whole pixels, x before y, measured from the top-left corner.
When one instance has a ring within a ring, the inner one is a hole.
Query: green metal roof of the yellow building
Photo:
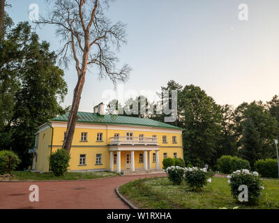
[[[157,128],[173,128],[183,130],[182,128],[167,123],[161,123],[149,118],[135,118],[128,116],[118,116],[113,114],[94,114],[90,112],[77,112],[78,123],[98,123],[98,124],[114,124],[114,125],[142,125],[146,127]],[[63,116],[52,118],[51,121],[68,121],[68,113]]]

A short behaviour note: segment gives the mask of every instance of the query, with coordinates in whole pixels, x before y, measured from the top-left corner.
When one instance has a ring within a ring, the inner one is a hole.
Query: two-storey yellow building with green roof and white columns
[[[165,157],[183,158],[181,128],[153,121],[104,114],[101,103],[93,113],[78,112],[70,150],[69,171],[162,169]],[[38,127],[32,169],[49,171],[48,157],[62,147],[68,114]]]

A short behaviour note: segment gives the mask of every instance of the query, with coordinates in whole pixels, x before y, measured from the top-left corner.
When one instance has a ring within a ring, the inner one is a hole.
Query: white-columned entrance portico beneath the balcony
[[[155,152],[155,157],[154,154],[151,154],[151,151]],[[143,156],[140,157],[140,161],[142,160],[143,169],[145,171],[152,169],[151,163],[154,160],[156,162],[156,169],[160,169],[159,146],[110,146],[110,171],[114,171],[115,160],[116,173],[120,173],[121,169],[130,169],[130,171],[135,171],[135,153]],[[123,160],[123,158],[121,159],[121,155],[125,156],[124,167],[121,167],[121,160]]]

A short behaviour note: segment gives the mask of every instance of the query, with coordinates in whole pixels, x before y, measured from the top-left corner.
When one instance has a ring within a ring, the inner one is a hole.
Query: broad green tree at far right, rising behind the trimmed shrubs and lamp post
[[[278,122],[262,102],[243,103],[234,112],[235,132],[239,138],[240,157],[250,166],[260,159],[276,157],[274,141]]]

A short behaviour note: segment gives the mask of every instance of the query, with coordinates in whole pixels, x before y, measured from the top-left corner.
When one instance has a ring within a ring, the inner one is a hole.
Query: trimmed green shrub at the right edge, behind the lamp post
[[[264,177],[278,178],[277,160],[258,160],[254,164],[255,169]]]

